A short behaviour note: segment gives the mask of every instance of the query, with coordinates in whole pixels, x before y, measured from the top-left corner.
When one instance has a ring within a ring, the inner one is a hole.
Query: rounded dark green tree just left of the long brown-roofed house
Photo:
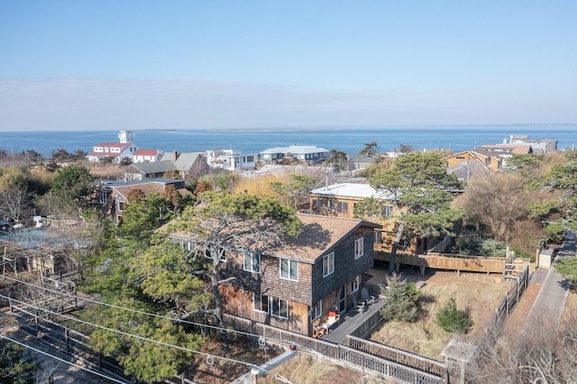
[[[74,206],[86,207],[90,200],[88,197],[95,190],[92,184],[94,177],[83,166],[69,166],[59,169],[52,179],[50,192],[55,197],[60,197],[65,203]]]

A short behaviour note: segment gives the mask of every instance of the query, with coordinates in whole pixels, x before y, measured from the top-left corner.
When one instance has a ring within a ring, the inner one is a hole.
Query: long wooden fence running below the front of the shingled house
[[[265,340],[270,339],[270,341],[274,343],[286,345],[295,344],[304,351],[316,352],[327,359],[338,361],[343,365],[350,366],[357,370],[380,373],[381,375],[408,383],[440,384],[444,382],[443,373],[434,374],[425,370],[412,368],[403,365],[403,363],[387,360],[350,346],[329,343],[321,339],[313,339],[304,334],[294,334],[233,315],[224,315],[224,323],[237,331],[257,334]],[[355,339],[359,340],[356,337]],[[398,353],[402,355],[403,351],[398,350]],[[405,360],[408,360],[408,358]],[[444,365],[442,362],[438,363]]]

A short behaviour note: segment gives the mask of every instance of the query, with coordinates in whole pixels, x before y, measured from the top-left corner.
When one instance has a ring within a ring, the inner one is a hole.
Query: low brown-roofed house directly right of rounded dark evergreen
[[[145,197],[151,194],[159,194],[161,197],[166,187],[173,186],[179,191],[180,195],[186,196],[190,192],[184,187],[184,184],[184,180],[166,178],[131,182],[110,180],[96,182],[100,206],[105,211],[105,214],[112,219],[114,224],[120,223],[123,212],[129,203],[128,197],[134,190],[142,191]]]

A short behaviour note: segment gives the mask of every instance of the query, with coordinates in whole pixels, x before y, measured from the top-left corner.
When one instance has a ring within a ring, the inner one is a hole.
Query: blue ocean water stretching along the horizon
[[[417,150],[464,151],[483,144],[501,143],[512,134],[525,134],[530,139],[556,139],[560,150],[577,145],[577,124],[174,130],[133,131],[133,134],[133,142],[139,148],[165,152],[233,148],[249,153],[297,144],[355,154],[368,142],[378,142],[380,151],[392,151],[400,145]],[[118,142],[118,131],[0,133],[0,150],[8,153],[33,150],[45,157],[60,149],[89,152],[101,142]]]

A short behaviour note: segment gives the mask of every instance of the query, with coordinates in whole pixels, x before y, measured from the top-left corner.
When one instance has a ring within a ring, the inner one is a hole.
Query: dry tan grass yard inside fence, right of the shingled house
[[[372,334],[371,340],[417,353],[435,360],[443,360],[441,352],[453,334],[444,332],[436,324],[436,314],[454,297],[457,307],[472,320],[469,335],[481,334],[489,324],[495,309],[511,285],[497,275],[481,273],[436,272],[421,288],[421,313],[416,323],[389,322]]]

